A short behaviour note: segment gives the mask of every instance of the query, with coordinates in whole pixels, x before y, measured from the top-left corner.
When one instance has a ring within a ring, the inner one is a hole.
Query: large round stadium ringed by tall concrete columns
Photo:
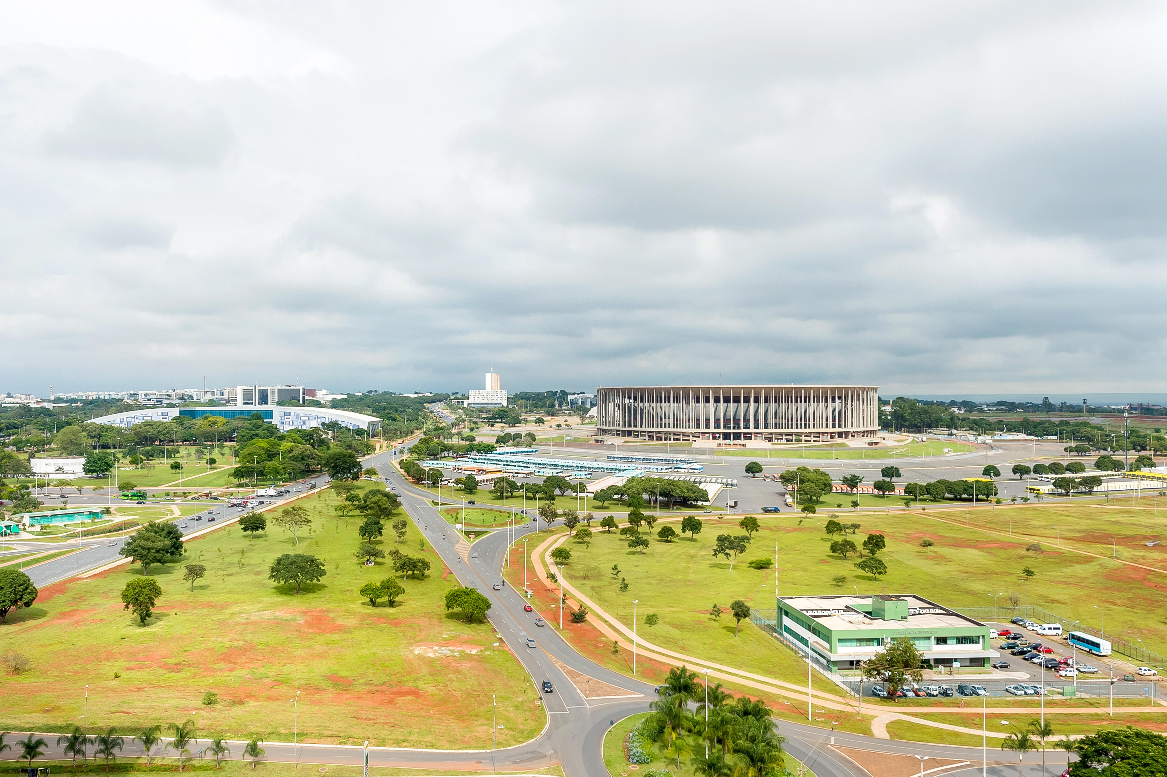
[[[874,438],[879,386],[601,386],[596,419],[596,434],[637,440]]]

